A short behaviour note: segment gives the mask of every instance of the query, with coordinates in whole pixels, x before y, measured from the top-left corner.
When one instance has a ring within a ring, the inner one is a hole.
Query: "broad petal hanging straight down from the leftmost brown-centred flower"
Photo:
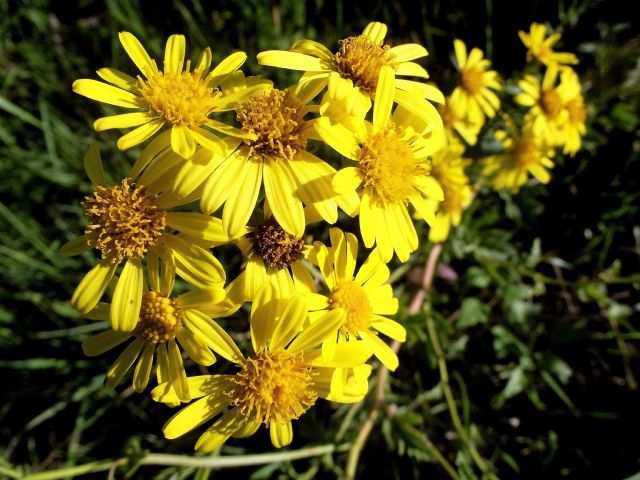
[[[114,330],[130,332],[136,328],[142,304],[142,287],[140,260],[128,260],[111,300],[111,326]]]

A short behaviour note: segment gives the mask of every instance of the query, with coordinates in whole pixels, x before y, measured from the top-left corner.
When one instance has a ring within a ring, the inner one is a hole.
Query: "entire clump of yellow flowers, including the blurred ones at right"
[[[288,86],[245,76],[243,52],[212,65],[207,48],[192,65],[182,35],[169,37],[160,68],[121,32],[138,73],[101,68],[101,81],[79,79],[73,90],[127,109],[94,127],[132,128],[118,147],[144,148],[116,182],[89,149],[87,226],[61,250],[98,254],[71,302],[108,321],[83,343],[89,356],[120,351],[106,385],[133,370],[144,392],[155,377],[153,399],[180,407],[165,436],[206,424],[195,445],[204,452],[261,425],[282,447],[319,399],[361,401],[368,362],[395,370],[387,337],[407,336],[389,318],[400,306],[387,263],[410,258],[427,240],[425,224],[431,241],[445,241],[484,182],[517,191],[530,173],[546,183],[556,152],[580,149],[586,111],[567,66],[577,59],[553,52],[559,36],[544,33],[538,24],[521,32],[545,71],[517,83],[518,121],[490,60],[462,40],[454,41],[458,82],[445,96],[416,62],[427,50],[388,44],[379,22],[334,48],[305,39],[260,53],[261,65],[302,72]],[[502,150],[480,160],[473,182],[470,148],[489,135]],[[353,219],[352,231],[331,227],[329,242],[307,231],[340,218]],[[228,259],[212,251],[224,244],[242,259],[233,279]],[[188,286],[179,294],[176,277]],[[222,326],[245,303],[250,346]],[[218,362],[229,362],[224,373],[190,375],[193,363],[216,370]]]

